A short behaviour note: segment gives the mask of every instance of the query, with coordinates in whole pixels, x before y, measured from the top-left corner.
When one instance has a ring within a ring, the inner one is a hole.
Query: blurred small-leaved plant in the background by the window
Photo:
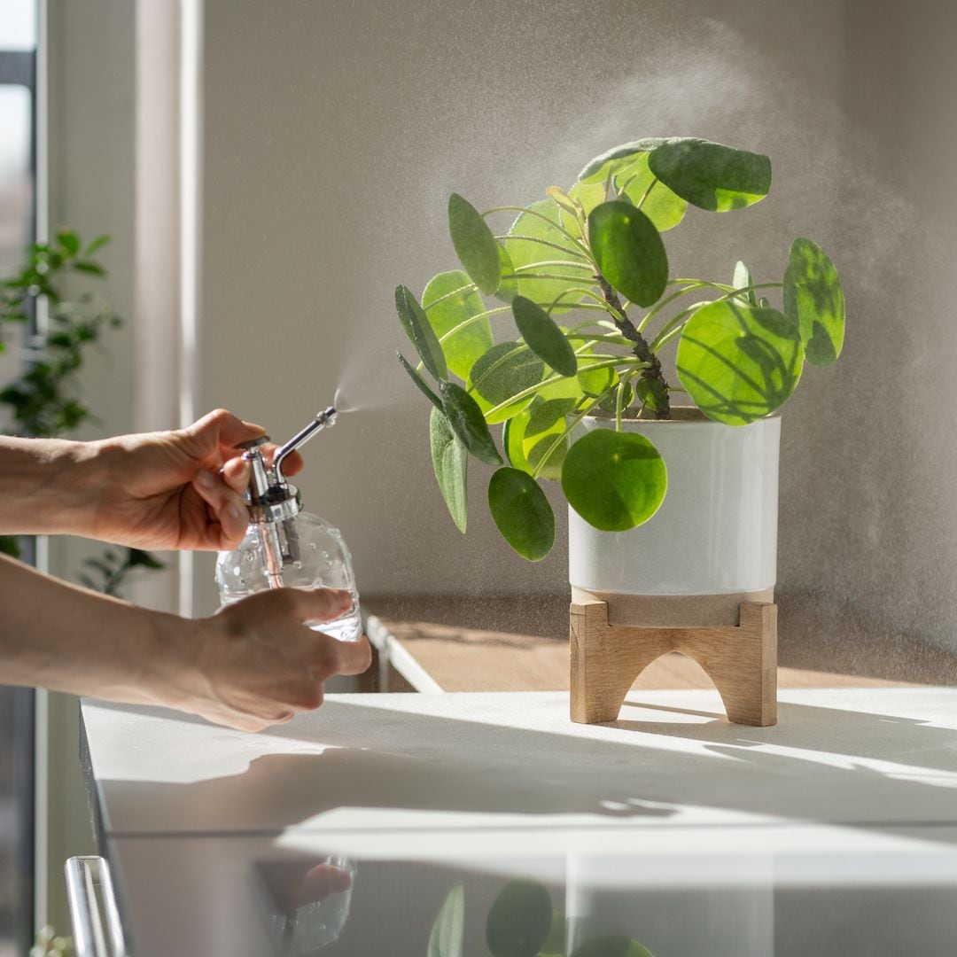
[[[0,283],[0,327],[23,327],[27,339],[28,367],[0,389],[0,405],[11,413],[14,434],[55,437],[96,421],[82,400],[78,371],[87,350],[99,346],[103,333],[122,325],[122,319],[89,288],[68,296],[66,287],[77,288],[78,279],[88,287],[106,278],[94,256],[108,242],[109,236],[100,235],[84,244],[72,230],[61,229],[50,242],[28,246],[26,261]],[[46,329],[34,332],[39,303],[45,303],[48,318]],[[0,339],[0,351],[5,349]],[[15,538],[0,536],[0,551],[18,557],[20,547]],[[77,579],[87,588],[118,594],[137,568],[163,564],[139,548],[108,549],[84,559]]]

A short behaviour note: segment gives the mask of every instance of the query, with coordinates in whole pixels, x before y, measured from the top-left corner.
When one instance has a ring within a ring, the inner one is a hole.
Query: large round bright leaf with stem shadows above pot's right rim
[[[801,378],[797,325],[776,309],[710,302],[685,324],[678,377],[709,418],[745,425],[774,412]]]

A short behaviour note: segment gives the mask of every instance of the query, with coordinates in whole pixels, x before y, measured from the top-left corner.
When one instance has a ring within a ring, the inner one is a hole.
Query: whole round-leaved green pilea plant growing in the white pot
[[[844,296],[811,239],[793,241],[781,282],[754,282],[740,261],[730,283],[670,276],[661,234],[689,205],[744,209],[768,195],[770,181],[767,156],[662,138],[610,150],[567,192],[549,187],[528,207],[479,213],[452,195],[462,270],[439,273],[421,301],[399,286],[395,306],[420,359],[399,361],[433,404],[435,477],[462,532],[470,455],[500,466],[489,508],[529,561],[554,541],[540,480],[560,480],[596,528],[634,528],[657,511],[667,469],[645,436],[622,431],[623,417],[670,418],[672,393],[681,392],[708,418],[746,425],[784,404],[805,362],[835,362]],[[495,234],[487,220],[506,213],[511,227]],[[782,308],[766,298],[772,289],[782,291]],[[492,321],[505,315],[517,334],[493,336]],[[670,344],[678,384],[658,358]],[[576,440],[590,414],[613,416],[615,429]],[[489,430],[500,423],[508,464]]]

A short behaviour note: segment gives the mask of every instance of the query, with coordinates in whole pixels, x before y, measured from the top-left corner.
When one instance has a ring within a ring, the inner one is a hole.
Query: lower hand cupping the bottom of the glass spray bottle
[[[323,681],[361,675],[372,652],[365,636],[339,641],[305,622],[333,621],[351,601],[344,590],[277,589],[198,619],[190,647],[173,649],[196,665],[169,703],[241,731],[261,731],[318,708]]]

